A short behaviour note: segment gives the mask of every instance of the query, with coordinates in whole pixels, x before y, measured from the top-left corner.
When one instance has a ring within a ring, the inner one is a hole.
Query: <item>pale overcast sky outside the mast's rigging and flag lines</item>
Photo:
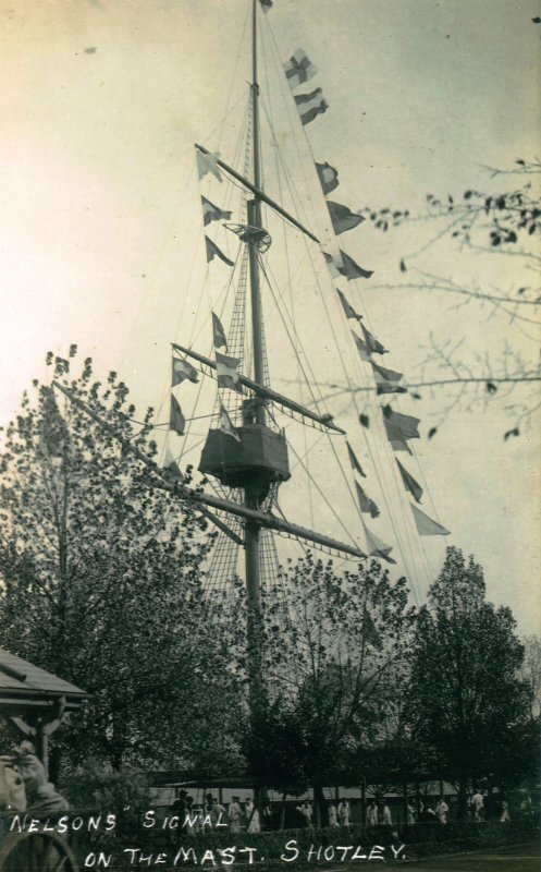
[[[45,375],[46,352],[65,353],[71,342],[98,372],[118,370],[139,405],[163,402],[168,343],[193,337],[200,239],[193,144],[222,147],[233,159],[220,121],[230,108],[231,132],[246,93],[247,7],[0,3],[2,421],[30,379]],[[340,168],[341,199],[416,211],[426,193],[490,185],[483,165],[507,168],[534,154],[540,28],[531,19],[539,14],[537,0],[274,0],[265,26],[283,59],[302,46],[319,70],[315,85],[330,110],[307,134],[318,159]],[[418,240],[362,227],[344,242],[378,281],[397,282],[399,256]],[[497,258],[455,264],[445,247],[432,256],[423,262],[431,271],[477,270],[485,286],[517,287],[522,278]],[[410,380],[429,330],[442,340],[464,334],[469,351],[497,350],[512,336],[485,312],[415,294],[374,296],[369,286],[362,293],[392,352],[385,365]],[[519,341],[531,356],[533,346]],[[401,408],[423,417],[426,434],[443,402]],[[475,553],[489,596],[532,632],[539,441],[531,431],[504,444],[508,426],[501,407],[457,412],[417,453],[453,543]],[[427,543],[432,571],[444,545]]]

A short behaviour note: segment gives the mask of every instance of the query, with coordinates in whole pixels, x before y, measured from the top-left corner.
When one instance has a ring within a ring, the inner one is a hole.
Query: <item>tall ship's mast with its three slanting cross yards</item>
[[[259,275],[259,256],[267,251],[270,238],[262,226],[261,204],[265,203],[282,219],[300,230],[307,238],[316,243],[318,238],[306,228],[296,216],[287,211],[281,204],[272,199],[262,190],[261,148],[260,148],[260,120],[259,120],[259,82],[258,82],[258,5],[260,0],[249,0],[253,5],[251,26],[251,179],[244,178],[239,172],[223,160],[213,156],[216,164],[228,175],[234,179],[250,192],[251,199],[247,203],[247,226],[242,228],[239,238],[247,245],[249,265],[249,290],[251,311],[251,360],[254,378],[238,375],[238,383],[244,396],[248,399],[243,402],[242,425],[235,427],[235,438],[225,433],[221,427],[210,428],[201,453],[199,471],[216,477],[226,487],[239,488],[244,492],[242,502],[228,499],[213,494],[196,491],[177,482],[171,482],[163,476],[163,472],[148,458],[145,452],[130,440],[113,432],[126,451],[134,453],[152,472],[152,484],[156,487],[171,492],[181,499],[194,502],[205,517],[222,530],[235,543],[241,543],[245,549],[245,577],[247,600],[247,654],[248,678],[250,691],[250,716],[255,723],[263,715],[266,710],[266,685],[262,658],[262,613],[261,613],[261,583],[260,583],[260,534],[261,530],[269,530],[293,536],[308,544],[316,544],[323,548],[346,554],[356,558],[366,555],[353,543],[339,542],[328,535],[307,530],[292,523],[282,517],[272,513],[268,499],[270,488],[290,479],[287,459],[287,443],[283,431],[276,432],[268,426],[267,404],[273,403],[279,408],[294,413],[302,420],[316,423],[321,429],[331,429],[344,434],[329,415],[321,415],[305,409],[298,402],[284,397],[267,384],[266,352],[263,341],[263,317],[261,308],[261,289]],[[202,145],[196,145],[201,154],[210,154]],[[176,352],[195,360],[205,366],[207,375],[216,373],[217,364],[195,352],[192,349],[173,344]],[[214,375],[216,377],[216,375]],[[87,403],[81,400],[70,389],[58,382],[54,387],[62,391],[72,402],[77,404],[90,419],[106,429],[111,431],[111,425],[95,412]],[[212,510],[212,511],[211,511]],[[241,538],[231,531],[226,523],[213,514],[213,510],[233,516],[244,522],[244,535]]]

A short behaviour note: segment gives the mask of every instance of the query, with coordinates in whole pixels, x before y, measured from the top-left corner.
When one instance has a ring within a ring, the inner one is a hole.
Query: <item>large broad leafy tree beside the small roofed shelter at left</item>
[[[159,488],[152,410],[134,422],[126,386],[114,373],[95,380],[89,359],[74,377],[75,353],[48,355],[52,379],[106,424],[35,382],[5,434],[2,644],[91,694],[69,742],[57,740],[69,760],[192,763],[196,718],[234,687],[201,586],[206,520]]]

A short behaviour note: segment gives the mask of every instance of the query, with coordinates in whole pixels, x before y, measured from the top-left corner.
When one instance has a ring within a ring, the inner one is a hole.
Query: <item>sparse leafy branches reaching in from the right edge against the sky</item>
[[[414,251],[402,252],[396,258],[399,279],[371,284],[372,290],[438,295],[450,310],[463,306],[470,314],[475,307],[495,323],[490,331],[491,348],[482,337],[481,341],[476,337],[468,346],[466,330],[458,338],[430,334],[429,349],[418,364],[419,374],[410,376],[407,383],[414,399],[425,393],[442,397],[432,435],[455,409],[471,410],[497,401],[503,404],[505,400],[512,426],[504,438],[513,438],[531,423],[541,407],[536,330],[541,308],[541,161],[519,158],[508,171],[490,168],[488,171],[492,179],[488,190],[469,189],[458,195],[427,194],[425,208],[415,214],[393,206],[362,210],[364,217],[382,232],[397,228],[415,231],[415,242],[409,243]],[[512,183],[501,184],[507,175]],[[431,263],[440,253],[447,259],[453,256],[454,276],[434,274]],[[504,277],[494,287],[492,274],[496,263]],[[505,276],[507,264],[513,264],[513,278]],[[457,272],[463,275],[457,278]],[[505,326],[500,332],[499,348],[494,348],[499,320]],[[341,385],[332,387],[334,393],[349,390]]]

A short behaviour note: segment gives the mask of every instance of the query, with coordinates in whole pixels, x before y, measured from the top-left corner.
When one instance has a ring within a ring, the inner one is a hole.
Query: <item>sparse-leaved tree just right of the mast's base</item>
[[[392,583],[377,561],[337,573],[308,555],[282,573],[266,615],[288,768],[313,785],[324,822],[322,787],[343,775],[352,748],[377,735],[388,675],[406,657],[414,618],[406,582]]]

